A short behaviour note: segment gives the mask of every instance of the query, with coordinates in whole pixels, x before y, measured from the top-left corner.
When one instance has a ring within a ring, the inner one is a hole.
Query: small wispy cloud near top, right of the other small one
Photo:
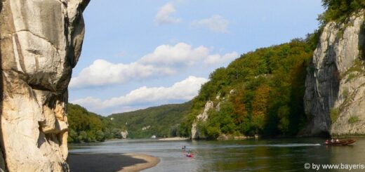
[[[213,15],[211,18],[202,20],[194,20],[192,22],[193,27],[207,27],[213,32],[226,33],[227,27],[230,22],[220,15]]]

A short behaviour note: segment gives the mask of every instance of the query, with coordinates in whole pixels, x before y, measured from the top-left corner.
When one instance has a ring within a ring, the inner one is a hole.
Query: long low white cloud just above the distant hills
[[[112,107],[118,107],[121,110],[133,109],[133,106],[143,107],[145,105],[145,107],[149,107],[151,104],[161,105],[170,101],[191,100],[198,94],[201,84],[206,83],[206,81],[208,79],[190,76],[169,87],[142,86],[126,95],[108,100],[87,97],[70,102],[82,105],[93,112],[102,112]]]

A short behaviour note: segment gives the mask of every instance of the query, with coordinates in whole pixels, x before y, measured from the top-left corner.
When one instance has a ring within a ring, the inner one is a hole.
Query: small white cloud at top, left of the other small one
[[[181,18],[174,18],[171,16],[175,13],[175,7],[171,3],[167,3],[164,6],[161,6],[159,12],[154,17],[154,22],[161,25],[161,24],[175,24],[182,21]]]

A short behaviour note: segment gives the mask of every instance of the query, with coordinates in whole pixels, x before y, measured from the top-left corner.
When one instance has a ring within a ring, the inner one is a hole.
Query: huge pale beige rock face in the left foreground
[[[69,171],[67,86],[88,1],[1,1],[2,169]]]

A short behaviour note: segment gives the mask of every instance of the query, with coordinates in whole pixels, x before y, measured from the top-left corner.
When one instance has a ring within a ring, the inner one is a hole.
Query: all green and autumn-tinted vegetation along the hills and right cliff
[[[69,110],[69,125],[74,131],[70,132],[69,141],[115,138],[121,130],[128,130],[131,138],[147,138],[151,135],[190,137],[192,124],[208,101],[212,101],[216,108],[208,111],[206,121],[198,122],[197,129],[201,138],[218,138],[223,134],[297,135],[312,120],[305,114],[303,97],[307,74],[313,74],[317,70],[311,62],[321,33],[331,21],[350,23],[345,20],[354,12],[365,8],[365,1],[362,0],[322,2],[327,10],[319,15],[321,26],[313,34],[308,34],[305,39],[293,39],[286,44],[258,48],[241,55],[227,67],[212,72],[210,81],[201,86],[199,95],[191,102],[112,114],[107,118],[84,109]],[[336,37],[343,32],[340,30]],[[363,60],[355,60],[360,68]],[[348,77],[347,80],[352,78]],[[350,93],[343,91],[343,94]],[[69,107],[75,106],[77,105]],[[335,123],[340,112],[338,108],[331,109],[331,112],[328,111],[328,119]],[[72,113],[84,113],[88,117],[86,121],[75,121],[79,119]],[[92,124],[86,124],[87,121]],[[348,124],[359,124],[359,121],[361,118],[357,116],[346,120]],[[79,124],[72,124],[73,122]],[[146,126],[150,127],[142,130]],[[114,134],[112,131],[115,131]]]

